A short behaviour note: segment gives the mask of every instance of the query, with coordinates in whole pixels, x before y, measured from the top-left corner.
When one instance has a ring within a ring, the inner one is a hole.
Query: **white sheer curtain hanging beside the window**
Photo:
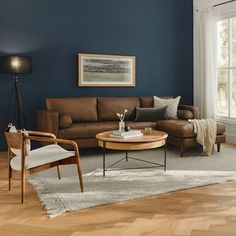
[[[195,14],[194,105],[201,118],[216,117],[215,17],[214,8]]]

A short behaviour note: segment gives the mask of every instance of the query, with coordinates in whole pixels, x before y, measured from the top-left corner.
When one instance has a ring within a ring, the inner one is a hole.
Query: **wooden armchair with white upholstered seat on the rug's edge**
[[[24,202],[25,178],[32,174],[52,167],[57,167],[58,178],[61,178],[59,165],[76,164],[80,180],[80,190],[83,192],[83,179],[80,169],[80,156],[78,146],[74,141],[57,139],[54,134],[25,131],[5,132],[8,144],[8,181],[11,190],[12,170],[21,172],[21,202]],[[26,153],[27,140],[51,143]],[[73,151],[67,151],[58,144],[67,144]]]

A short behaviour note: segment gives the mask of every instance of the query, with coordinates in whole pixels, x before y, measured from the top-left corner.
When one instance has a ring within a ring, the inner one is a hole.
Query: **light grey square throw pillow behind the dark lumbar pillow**
[[[180,96],[173,99],[163,99],[156,96],[153,96],[154,99],[154,108],[163,108],[168,106],[165,113],[166,119],[178,119],[177,109],[180,101]]]

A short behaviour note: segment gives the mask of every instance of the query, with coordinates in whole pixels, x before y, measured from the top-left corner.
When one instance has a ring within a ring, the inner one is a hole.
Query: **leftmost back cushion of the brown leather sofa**
[[[96,97],[47,98],[46,108],[60,116],[69,115],[73,122],[98,121]]]

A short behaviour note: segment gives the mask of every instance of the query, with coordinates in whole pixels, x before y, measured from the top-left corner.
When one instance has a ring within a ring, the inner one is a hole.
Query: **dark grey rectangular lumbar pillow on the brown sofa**
[[[157,121],[165,119],[167,106],[158,108],[140,108],[136,107],[135,121]]]

